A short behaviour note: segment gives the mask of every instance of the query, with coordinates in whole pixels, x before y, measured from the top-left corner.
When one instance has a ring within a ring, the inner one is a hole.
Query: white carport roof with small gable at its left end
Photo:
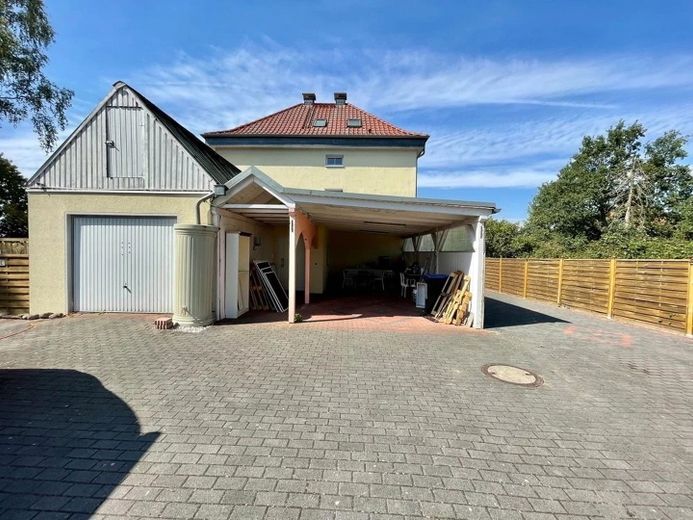
[[[291,211],[328,228],[415,236],[476,221],[497,212],[492,202],[397,197],[286,188],[255,167],[226,183],[217,208],[265,224],[282,224]]]

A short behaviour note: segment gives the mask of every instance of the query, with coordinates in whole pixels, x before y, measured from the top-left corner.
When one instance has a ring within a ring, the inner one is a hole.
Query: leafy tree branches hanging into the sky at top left
[[[43,73],[53,39],[42,0],[0,0],[0,120],[16,125],[30,117],[46,151],[67,124],[73,95]]]

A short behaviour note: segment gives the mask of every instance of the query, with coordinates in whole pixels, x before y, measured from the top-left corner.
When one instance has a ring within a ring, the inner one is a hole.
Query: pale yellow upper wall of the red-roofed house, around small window
[[[256,166],[282,186],[352,193],[416,196],[417,150],[387,148],[236,148],[215,150],[241,170]],[[344,156],[327,168],[325,155]]]

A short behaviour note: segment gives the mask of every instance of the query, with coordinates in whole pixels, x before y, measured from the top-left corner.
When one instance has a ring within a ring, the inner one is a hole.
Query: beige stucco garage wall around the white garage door
[[[199,195],[29,193],[29,277],[32,313],[68,312],[70,215],[158,215],[195,223]],[[208,205],[202,206],[209,223]]]

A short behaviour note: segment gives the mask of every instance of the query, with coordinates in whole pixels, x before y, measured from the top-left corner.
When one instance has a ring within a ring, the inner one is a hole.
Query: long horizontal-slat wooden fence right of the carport
[[[487,258],[485,287],[693,334],[691,260]]]

